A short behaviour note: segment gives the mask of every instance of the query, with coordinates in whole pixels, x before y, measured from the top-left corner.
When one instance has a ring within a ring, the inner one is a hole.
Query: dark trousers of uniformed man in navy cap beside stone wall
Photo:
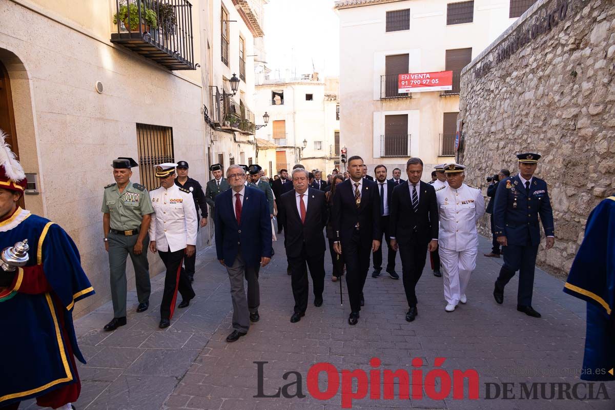
[[[534,291],[534,269],[536,269],[536,255],[538,245],[508,245],[502,246],[504,264],[500,269],[496,286],[504,290],[504,286],[519,271],[519,288],[517,291],[517,304],[531,306]]]

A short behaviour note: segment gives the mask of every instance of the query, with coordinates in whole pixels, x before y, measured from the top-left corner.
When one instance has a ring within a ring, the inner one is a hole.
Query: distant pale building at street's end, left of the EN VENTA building
[[[338,95],[339,79],[319,81],[317,73],[256,85],[257,111],[269,114],[269,125],[256,135],[277,145],[276,161],[260,164],[268,175],[295,164],[325,175],[339,166]]]

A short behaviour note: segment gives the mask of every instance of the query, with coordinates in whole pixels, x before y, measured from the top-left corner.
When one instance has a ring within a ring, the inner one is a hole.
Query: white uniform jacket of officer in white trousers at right
[[[440,215],[438,243],[442,248],[464,251],[478,247],[476,222],[485,213],[485,199],[480,189],[461,184],[435,193]]]

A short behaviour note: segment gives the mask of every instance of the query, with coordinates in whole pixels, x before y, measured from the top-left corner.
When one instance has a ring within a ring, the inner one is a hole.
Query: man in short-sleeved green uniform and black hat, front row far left
[[[115,183],[105,187],[101,209],[113,300],[113,320],[105,325],[107,331],[126,324],[126,259],[129,255],[135,267],[139,301],[137,312],[145,312],[149,307],[148,229],[151,214],[154,213],[145,186],[130,182],[130,168],[137,167],[137,162],[132,158],[119,157],[113,160],[111,166]]]

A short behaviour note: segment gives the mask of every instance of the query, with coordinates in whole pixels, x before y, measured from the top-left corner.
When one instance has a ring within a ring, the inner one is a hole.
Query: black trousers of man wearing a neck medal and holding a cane
[[[346,286],[350,307],[352,312],[359,312],[365,278],[367,271],[370,270],[371,240],[362,243],[359,231],[354,229],[351,239],[342,242],[341,245],[346,263]]]

